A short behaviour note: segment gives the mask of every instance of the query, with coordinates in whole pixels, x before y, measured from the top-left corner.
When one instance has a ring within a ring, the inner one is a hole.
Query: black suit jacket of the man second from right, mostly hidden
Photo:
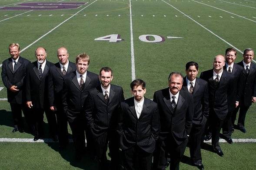
[[[226,70],[226,65],[223,67],[223,69]],[[243,67],[241,67],[240,65],[234,63],[233,68],[232,68],[232,72],[231,74],[233,75],[233,90],[232,91],[236,91],[236,93],[230,93],[229,98],[228,98],[228,109],[229,112],[232,112],[235,108],[236,108],[236,101],[239,101],[239,94],[238,89],[239,89],[239,82],[240,82],[240,75],[243,71]]]

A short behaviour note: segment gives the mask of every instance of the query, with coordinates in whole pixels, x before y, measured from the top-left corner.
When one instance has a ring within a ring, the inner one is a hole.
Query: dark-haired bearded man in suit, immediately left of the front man
[[[84,102],[86,124],[93,138],[96,159],[100,169],[107,169],[106,151],[109,143],[111,154],[111,170],[117,170],[119,165],[118,147],[118,107],[124,100],[123,88],[110,84],[113,71],[109,67],[100,69],[101,84],[89,91]]]

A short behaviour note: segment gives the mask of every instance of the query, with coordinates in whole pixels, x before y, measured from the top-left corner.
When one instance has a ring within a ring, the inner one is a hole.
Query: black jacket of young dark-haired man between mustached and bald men
[[[189,92],[187,88],[186,77],[183,79],[183,89]],[[192,96],[195,108],[193,124],[200,125],[203,121],[203,116],[206,119],[209,116],[208,84],[205,80],[196,78]]]

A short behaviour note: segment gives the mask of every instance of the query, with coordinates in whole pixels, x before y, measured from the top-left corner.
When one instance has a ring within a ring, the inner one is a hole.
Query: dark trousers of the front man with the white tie
[[[153,153],[147,153],[138,146],[123,150],[124,170],[151,170]]]

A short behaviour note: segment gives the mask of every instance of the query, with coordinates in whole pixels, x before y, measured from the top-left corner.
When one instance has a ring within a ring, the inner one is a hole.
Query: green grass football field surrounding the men
[[[18,3],[59,1],[87,3],[65,10],[3,10]],[[151,99],[156,90],[167,87],[170,72],[185,73],[188,61],[198,62],[200,74],[212,68],[213,57],[224,55],[229,47],[237,49],[236,62],[241,61],[241,51],[256,49],[255,30],[256,0],[132,0],[131,6],[129,0],[0,0],[0,63],[10,57],[8,45],[12,42],[20,44],[21,56],[30,61],[35,61],[35,49],[43,46],[53,63],[58,61],[57,48],[64,46],[70,61],[82,52],[90,55],[90,71],[98,73],[101,67],[111,67],[113,83],[123,87],[126,98],[131,96],[132,78],[145,80],[146,97]],[[122,40],[95,40],[106,35]],[[0,87],[4,87],[1,80]],[[5,87],[0,98],[7,98]],[[236,130],[233,138],[256,139],[255,113],[254,104],[246,116],[247,133]],[[10,105],[2,100],[0,138],[33,138],[11,130]],[[202,150],[206,169],[256,169],[256,143],[224,143],[221,147],[224,157]],[[72,144],[63,153],[58,152],[56,143],[0,142],[0,148],[3,170],[95,169],[87,157],[82,163],[73,160]],[[188,149],[185,155],[189,157]],[[184,157],[180,169],[196,170],[186,160]]]

